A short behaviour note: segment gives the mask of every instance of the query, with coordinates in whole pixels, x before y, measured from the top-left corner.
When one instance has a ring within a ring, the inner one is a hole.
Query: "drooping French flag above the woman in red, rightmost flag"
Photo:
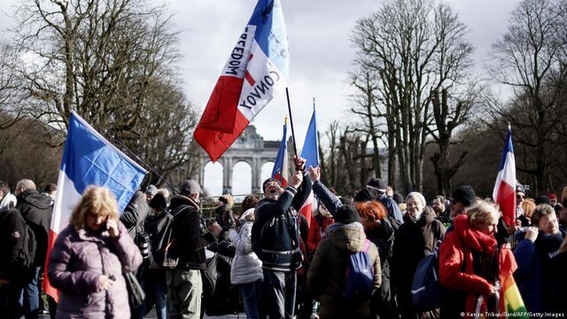
[[[508,136],[502,152],[500,170],[494,183],[494,202],[500,206],[506,225],[516,222],[516,159],[512,146],[512,129],[508,126]]]

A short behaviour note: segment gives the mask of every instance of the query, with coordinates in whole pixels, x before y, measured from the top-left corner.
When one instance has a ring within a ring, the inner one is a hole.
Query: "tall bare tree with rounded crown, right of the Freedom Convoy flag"
[[[454,10],[435,0],[386,1],[354,28],[356,63],[379,76],[377,115],[389,124],[387,146],[396,151],[404,192],[423,188],[431,91],[461,85],[468,75],[466,31]]]

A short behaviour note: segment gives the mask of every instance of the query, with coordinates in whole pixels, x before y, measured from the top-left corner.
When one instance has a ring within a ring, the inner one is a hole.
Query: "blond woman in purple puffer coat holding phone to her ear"
[[[59,291],[56,318],[128,318],[122,273],[141,263],[140,251],[118,220],[113,193],[89,186],[50,253],[47,276]]]

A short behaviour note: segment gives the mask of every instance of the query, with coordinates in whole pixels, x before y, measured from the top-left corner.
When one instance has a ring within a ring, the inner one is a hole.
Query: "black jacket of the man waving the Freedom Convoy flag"
[[[293,253],[299,252],[298,211],[311,192],[309,176],[304,176],[299,190],[285,188],[277,200],[260,200],[252,226],[252,250],[262,261],[262,267],[277,271],[291,271]]]

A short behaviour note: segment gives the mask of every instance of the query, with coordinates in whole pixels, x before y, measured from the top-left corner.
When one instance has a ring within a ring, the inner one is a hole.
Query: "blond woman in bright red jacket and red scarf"
[[[439,247],[439,283],[446,288],[441,318],[478,317],[501,308],[501,279],[516,268],[509,245],[498,247],[494,237],[500,212],[492,204],[478,201],[466,214],[454,218],[454,231]]]

